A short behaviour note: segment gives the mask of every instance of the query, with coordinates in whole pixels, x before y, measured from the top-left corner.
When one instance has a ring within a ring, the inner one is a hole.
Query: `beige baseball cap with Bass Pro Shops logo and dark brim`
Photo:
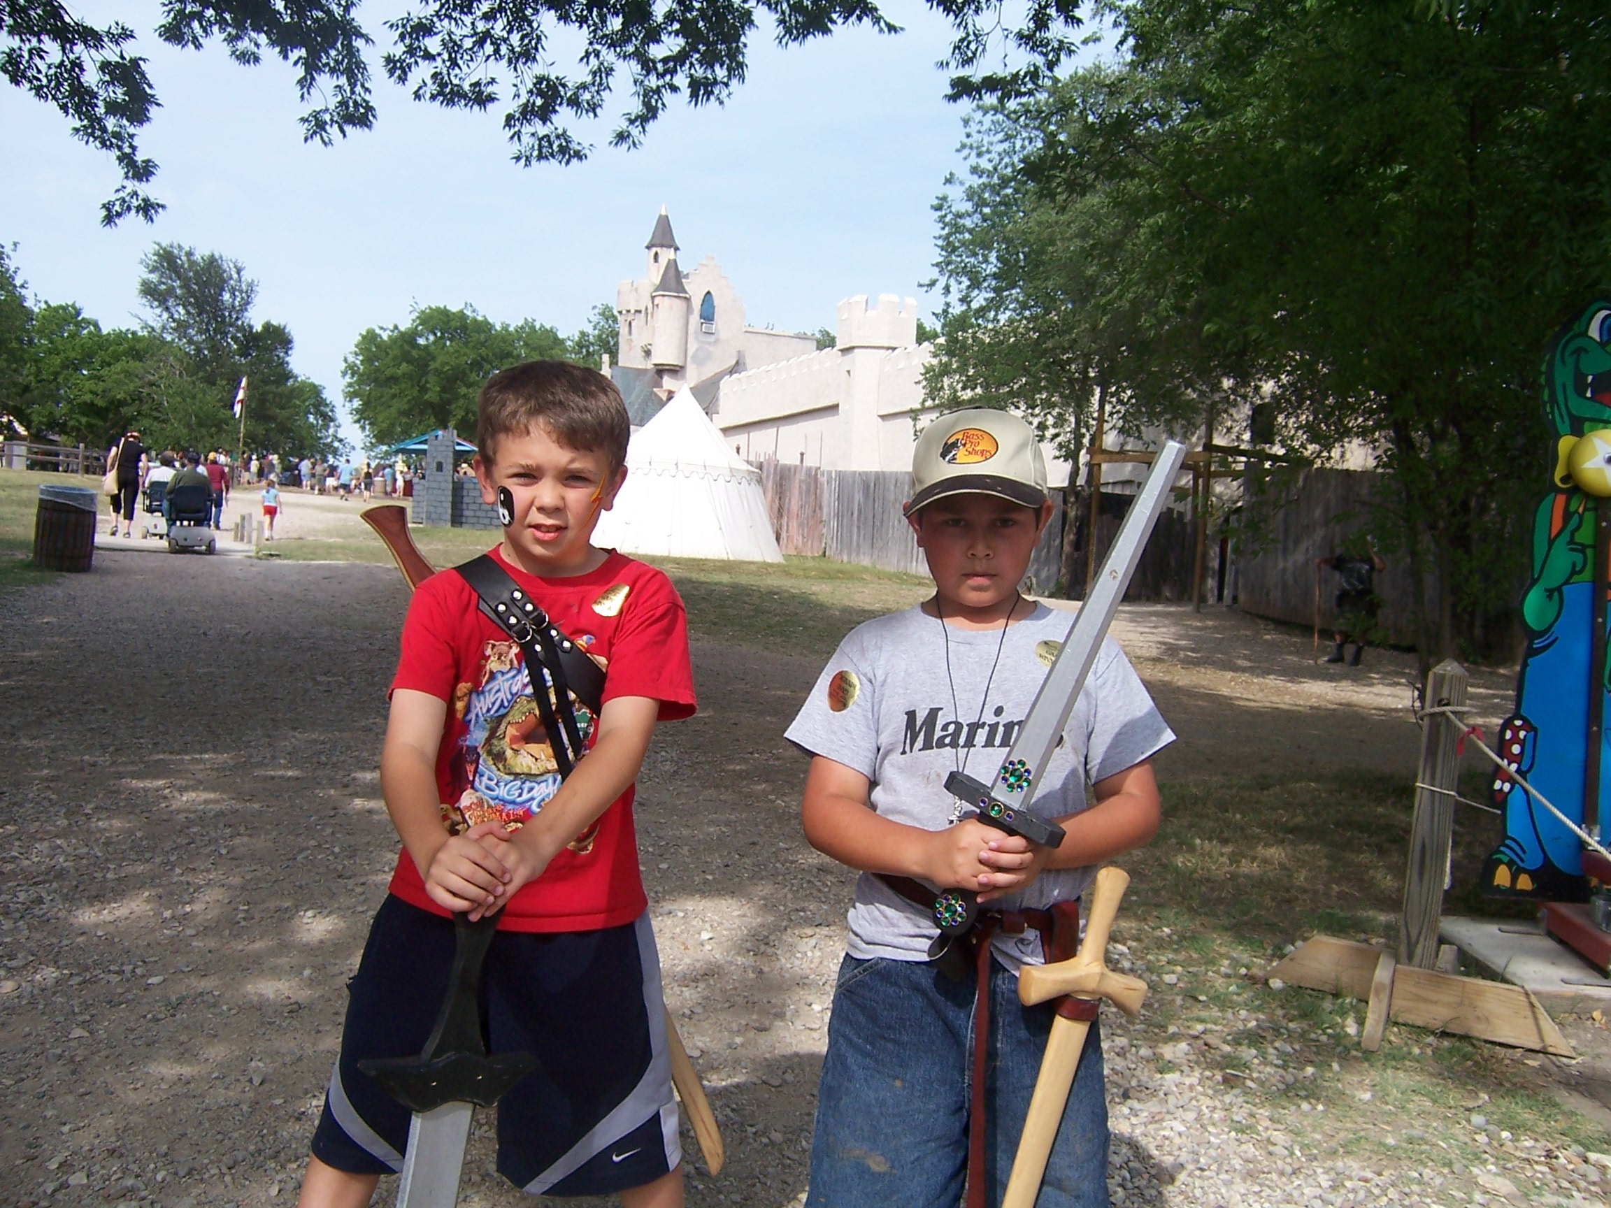
[[[996,494],[1025,507],[1047,501],[1046,457],[1034,430],[994,407],[941,416],[917,438],[905,515],[949,494]]]

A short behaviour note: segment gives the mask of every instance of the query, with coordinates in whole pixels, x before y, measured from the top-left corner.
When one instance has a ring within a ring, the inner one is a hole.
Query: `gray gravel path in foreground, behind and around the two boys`
[[[0,596],[0,1203],[295,1198],[395,854],[375,763],[404,607],[390,567],[110,549],[93,575]],[[1302,675],[1258,693],[1257,667],[1234,672],[1252,685],[1237,705],[1231,670],[1166,649],[1163,614],[1126,615],[1182,747],[1231,726],[1247,757],[1281,759],[1269,710],[1313,691]],[[1263,641],[1242,618],[1187,623],[1218,623],[1202,638],[1224,657]],[[801,841],[802,763],[778,738],[815,662],[694,660],[702,712],[657,736],[638,807],[667,1002],[728,1145],[688,1198],[781,1208],[806,1185],[851,878]],[[1368,688],[1379,709],[1329,704],[1361,741],[1405,725],[1395,670]],[[1116,939],[1115,965],[1153,986],[1139,1020],[1104,1016],[1116,1203],[1600,1202],[1597,1158],[1510,1136],[1479,1090],[1452,1086],[1435,1111],[1402,1094],[1395,1069],[1463,1042],[1392,1029],[1365,1060],[1360,1011],[1260,986],[1257,954],[1216,968],[1142,920]],[[1568,1031],[1592,1110],[1605,1032]],[[1493,1060],[1542,1102],[1569,1081],[1571,1063]],[[524,1203],[490,1177],[488,1123],[462,1202]]]

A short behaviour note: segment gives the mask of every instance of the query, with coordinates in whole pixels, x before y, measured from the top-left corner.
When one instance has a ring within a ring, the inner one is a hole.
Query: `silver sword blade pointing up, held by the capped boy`
[[[1124,523],[1118,530],[1113,548],[1102,564],[1102,573],[1086,594],[1075,623],[1063,639],[1063,647],[1052,660],[1052,670],[1041,681],[1041,691],[1034,694],[1029,714],[1023,720],[1023,728],[1013,739],[1007,759],[1002,762],[991,781],[991,796],[996,801],[1028,805],[1034,796],[1034,783],[1058,739],[1068,715],[1075,710],[1079,689],[1091,675],[1091,665],[1102,649],[1102,638],[1113,623],[1113,614],[1124,599],[1124,588],[1129,586],[1136,564],[1141,562],[1141,551],[1147,546],[1152,527],[1163,514],[1170,501],[1170,490],[1174,486],[1174,475],[1179,474],[1181,462],[1186,461],[1186,446],[1179,441],[1168,441],[1152,462],[1141,494],[1129,506]]]

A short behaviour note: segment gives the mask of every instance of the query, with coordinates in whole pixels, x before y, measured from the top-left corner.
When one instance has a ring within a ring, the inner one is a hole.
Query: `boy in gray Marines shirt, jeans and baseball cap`
[[[809,1208],[999,1203],[1052,1003],[1023,1007],[1017,970],[1046,960],[1050,916],[1095,867],[1147,842],[1147,762],[1174,739],[1107,639],[1034,786],[1055,849],[959,820],[952,772],[989,781],[1070,617],[1023,599],[1052,506],[1034,433],[1000,411],[938,419],[918,440],[905,515],[934,596],[857,627],[788,738],[812,755],[802,820],[818,850],[862,870],[817,1097]],[[1094,792],[1087,797],[1086,786]],[[936,889],[973,889],[981,926],[930,960]],[[1049,913],[1050,912],[1050,913]],[[979,970],[979,974],[975,974]],[[1095,1024],[1037,1203],[1107,1205],[1107,1103]]]

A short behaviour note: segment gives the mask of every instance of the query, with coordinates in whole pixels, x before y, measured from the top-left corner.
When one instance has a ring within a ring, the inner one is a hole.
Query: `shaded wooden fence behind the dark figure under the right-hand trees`
[[[1237,607],[1260,617],[1315,623],[1316,594],[1321,630],[1337,618],[1337,573],[1319,572],[1315,559],[1332,557],[1344,541],[1369,520],[1376,506],[1379,475],[1369,470],[1297,470],[1290,478],[1273,478],[1244,486],[1245,525],[1237,556]],[[1414,581],[1408,562],[1398,559],[1376,575],[1377,617],[1389,641],[1413,646]],[[1435,610],[1437,601],[1427,599]]]

